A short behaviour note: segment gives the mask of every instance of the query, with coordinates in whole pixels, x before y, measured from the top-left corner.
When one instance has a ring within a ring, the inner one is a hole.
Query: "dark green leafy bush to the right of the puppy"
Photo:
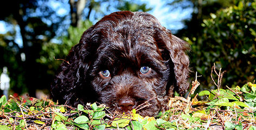
[[[213,63],[227,70],[223,84],[241,85],[253,81],[256,72],[256,2],[239,1],[203,19],[201,36],[185,38],[191,44],[191,67],[201,75],[210,75]],[[201,79],[201,80],[200,80]],[[211,87],[210,77],[200,78]]]

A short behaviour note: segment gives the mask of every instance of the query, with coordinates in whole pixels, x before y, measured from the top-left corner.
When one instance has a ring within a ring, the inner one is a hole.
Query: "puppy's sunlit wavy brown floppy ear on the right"
[[[189,87],[188,75],[189,75],[189,57],[186,51],[190,50],[190,46],[187,42],[181,40],[180,38],[172,35],[169,32],[170,43],[167,44],[167,48],[171,57],[171,64],[174,66],[174,73],[177,84],[174,89],[177,90],[179,94],[185,94]],[[174,80],[175,81],[175,80]]]

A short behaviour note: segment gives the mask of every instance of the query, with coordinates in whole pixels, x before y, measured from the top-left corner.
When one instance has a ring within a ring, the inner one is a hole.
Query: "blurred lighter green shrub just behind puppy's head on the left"
[[[69,50],[75,45],[79,43],[79,40],[82,36],[82,33],[91,27],[91,21],[82,22],[82,27],[69,27],[68,35],[59,37],[61,43],[53,43],[49,42],[43,44],[42,51],[40,53],[40,59],[36,61],[45,64],[48,67],[47,73],[50,75],[54,75],[57,68],[60,66],[62,61],[56,61],[56,59],[66,59],[66,56],[69,53]],[[55,57],[55,59],[54,59]]]

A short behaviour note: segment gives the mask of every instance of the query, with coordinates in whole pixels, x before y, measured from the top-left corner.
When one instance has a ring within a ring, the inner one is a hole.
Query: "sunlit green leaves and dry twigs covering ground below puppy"
[[[204,90],[207,101],[170,98],[170,109],[156,118],[130,113],[110,113],[97,103],[77,108],[35,98],[0,99],[1,129],[255,129],[256,84],[230,89]],[[239,100],[239,101],[238,101]],[[250,103],[252,102],[252,103]],[[189,111],[186,112],[185,110]]]

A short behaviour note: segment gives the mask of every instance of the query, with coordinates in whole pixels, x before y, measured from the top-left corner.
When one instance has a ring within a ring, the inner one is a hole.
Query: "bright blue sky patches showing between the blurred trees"
[[[40,2],[40,1],[39,1]],[[177,30],[180,30],[184,28],[184,24],[182,21],[184,19],[191,18],[191,13],[193,12],[193,8],[175,8],[170,11],[170,5],[166,6],[167,1],[165,0],[140,0],[141,3],[146,3],[147,7],[152,8],[149,13],[153,16],[155,16],[158,21],[166,28],[170,29],[173,33],[175,33]],[[43,3],[42,3],[43,4]],[[62,5],[61,2],[57,1],[49,1],[48,3],[51,8],[56,10],[57,15],[67,15],[69,13],[69,5]],[[184,4],[192,4],[189,2],[185,2]],[[102,6],[104,8],[104,5]],[[117,11],[117,10],[111,10],[111,11]],[[109,12],[110,14],[111,12]],[[91,15],[92,16],[92,15]],[[50,23],[49,19],[44,19],[44,22]],[[95,23],[97,21],[93,21]],[[8,28],[7,28],[8,27]],[[0,21],[0,34],[5,34],[7,31],[12,30],[13,27],[5,23],[4,21]],[[19,46],[22,46],[22,38],[20,33],[20,28],[15,27],[16,32],[18,32],[15,36],[15,42],[19,44]]]

